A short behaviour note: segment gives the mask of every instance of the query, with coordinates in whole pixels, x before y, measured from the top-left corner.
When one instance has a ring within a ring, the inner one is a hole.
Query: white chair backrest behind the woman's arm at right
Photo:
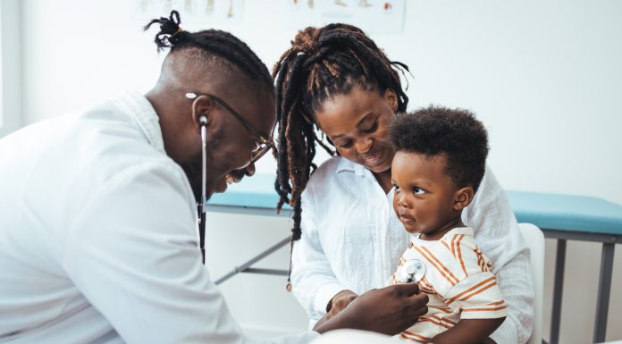
[[[542,297],[544,295],[544,235],[531,223],[518,223],[531,251],[529,260],[534,275],[534,331],[527,344],[542,344]]]

